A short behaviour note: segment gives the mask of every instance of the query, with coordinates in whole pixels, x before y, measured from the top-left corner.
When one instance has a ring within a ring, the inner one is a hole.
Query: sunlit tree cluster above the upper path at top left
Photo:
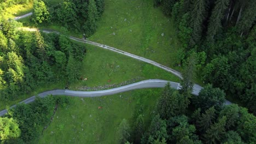
[[[104,10],[104,0],[65,0],[56,5],[35,0],[33,21],[36,23],[59,23],[75,32],[89,37],[96,31],[96,21]]]

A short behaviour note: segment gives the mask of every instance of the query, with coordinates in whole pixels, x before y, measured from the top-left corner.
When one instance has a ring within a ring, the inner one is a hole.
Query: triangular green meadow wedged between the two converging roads
[[[80,44],[80,43],[77,43]],[[103,86],[121,83],[141,77],[142,79],[164,79],[178,82],[178,77],[154,65],[139,62],[136,59],[120,55],[100,47],[82,44],[87,47],[84,57],[82,77],[87,81],[73,83],[70,88],[79,86]],[[108,82],[110,80],[111,82]]]

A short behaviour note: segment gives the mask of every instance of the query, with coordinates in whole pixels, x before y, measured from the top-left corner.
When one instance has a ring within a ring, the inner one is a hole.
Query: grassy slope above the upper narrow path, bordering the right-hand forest
[[[154,8],[153,1],[106,0],[97,32],[89,39],[168,67],[177,61],[179,43],[172,20]]]

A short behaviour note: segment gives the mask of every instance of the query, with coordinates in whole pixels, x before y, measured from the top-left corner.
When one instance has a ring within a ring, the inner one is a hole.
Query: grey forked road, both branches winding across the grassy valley
[[[19,20],[19,19],[22,19],[22,18],[30,16],[30,15],[32,15],[32,13],[29,13],[29,14],[26,14],[26,15],[23,15],[23,16],[19,16],[19,17],[15,17],[15,20]],[[20,29],[23,29],[23,30],[26,30],[26,31],[38,31],[38,29],[34,29],[34,28],[20,28]],[[48,31],[48,30],[41,30],[41,31],[46,32],[46,33],[55,32],[55,31]],[[55,32],[55,33],[59,33],[59,32]],[[164,69],[166,71],[170,71],[171,73],[173,73],[174,75],[176,75],[176,76],[178,76],[182,79],[182,75],[178,71],[173,70],[171,68],[168,68],[168,67],[166,67],[162,64],[156,63],[154,61],[151,61],[150,59],[139,57],[139,56],[133,55],[131,53],[115,49],[114,47],[98,44],[98,43],[95,43],[93,41],[83,40],[83,39],[79,39],[79,38],[75,38],[75,37],[69,37],[69,38],[73,39],[75,41],[79,41],[79,42],[82,42],[82,43],[99,46],[99,47],[102,47],[104,49],[108,49],[108,50],[111,50],[111,51],[114,51],[114,52],[118,52],[118,53],[121,53],[123,55],[138,59],[139,61],[143,61],[143,62],[146,62],[146,63],[149,63],[149,64],[153,64],[156,67],[159,67],[159,68]],[[67,96],[71,96],[71,97],[100,97],[100,96],[104,96],[104,95],[112,95],[112,94],[117,94],[117,93],[121,93],[121,92],[131,91],[133,89],[165,87],[167,82],[170,82],[170,85],[171,85],[172,88],[175,88],[175,89],[180,89],[181,88],[180,84],[177,83],[177,82],[166,81],[166,80],[145,80],[145,81],[132,83],[130,85],[121,86],[121,87],[112,88],[112,89],[107,89],[107,90],[103,90],[103,91],[84,92],[84,91],[71,91],[71,90],[68,90],[68,89],[55,89],[55,90],[52,90],[52,91],[46,91],[46,92],[43,92],[43,93],[39,93],[38,97],[43,98],[43,97],[46,97],[47,95],[50,95],[50,94],[52,94],[52,95],[67,95]],[[198,95],[199,92],[201,91],[201,89],[202,89],[201,86],[195,84],[194,87],[193,87],[192,94]],[[34,101],[35,98],[36,98],[36,96],[34,95],[33,97],[30,97],[30,98],[28,98],[24,101],[21,101],[20,103],[28,104],[28,103],[31,103],[32,101]],[[229,105],[229,104],[231,104],[231,102],[226,100],[225,104]],[[10,108],[15,107],[15,106],[16,105],[13,105]],[[0,111],[0,116],[3,116],[5,113],[7,113],[7,110]]]

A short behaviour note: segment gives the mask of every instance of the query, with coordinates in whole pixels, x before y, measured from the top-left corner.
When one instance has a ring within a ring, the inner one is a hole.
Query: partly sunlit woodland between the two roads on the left
[[[72,82],[79,76],[85,49],[66,35],[18,31],[20,24],[0,25],[0,98],[14,100],[40,85]],[[68,77],[68,79],[67,79]]]

